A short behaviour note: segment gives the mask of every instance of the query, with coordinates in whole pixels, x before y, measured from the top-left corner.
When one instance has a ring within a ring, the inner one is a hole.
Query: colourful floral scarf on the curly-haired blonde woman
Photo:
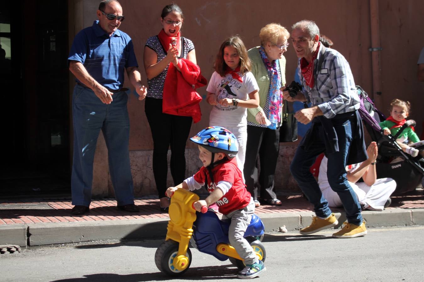
[[[283,95],[280,91],[281,88],[281,76],[278,71],[277,61],[274,60],[272,63],[268,60],[266,56],[265,49],[263,46],[259,48],[259,53],[262,57],[262,61],[265,64],[265,68],[268,71],[271,71],[271,84],[269,88],[269,111],[268,111],[268,120],[271,121],[271,124],[268,126],[269,129],[276,129],[277,125],[281,121],[281,113],[283,108]]]

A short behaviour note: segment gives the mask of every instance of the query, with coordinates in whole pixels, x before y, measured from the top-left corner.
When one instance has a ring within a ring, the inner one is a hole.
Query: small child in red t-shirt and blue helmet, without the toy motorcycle
[[[190,138],[190,141],[198,145],[203,167],[176,187],[169,187],[166,194],[171,197],[177,189],[193,191],[206,184],[210,194],[205,200],[195,202],[194,208],[201,211],[203,206],[216,203],[223,218],[231,219],[229,242],[246,265],[237,273],[237,277],[257,277],[265,271],[265,265],[258,259],[249,242],[243,238],[254,214],[255,204],[243,183],[241,170],[237,167],[237,139],[223,127],[209,126]]]

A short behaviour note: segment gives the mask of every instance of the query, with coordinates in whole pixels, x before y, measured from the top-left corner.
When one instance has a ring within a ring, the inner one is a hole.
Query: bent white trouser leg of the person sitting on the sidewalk
[[[382,211],[384,204],[396,189],[396,181],[392,178],[379,178],[372,186],[365,183],[357,183],[358,187],[365,192],[362,202],[369,205],[372,211]]]

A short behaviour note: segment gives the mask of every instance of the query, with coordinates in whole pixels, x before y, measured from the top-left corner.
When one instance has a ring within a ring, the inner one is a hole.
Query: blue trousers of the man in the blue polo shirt
[[[118,205],[134,204],[128,151],[128,96],[114,93],[111,104],[103,104],[94,92],[75,85],[72,99],[74,153],[71,176],[72,204],[89,206],[93,161],[100,129],[106,141],[109,173]]]

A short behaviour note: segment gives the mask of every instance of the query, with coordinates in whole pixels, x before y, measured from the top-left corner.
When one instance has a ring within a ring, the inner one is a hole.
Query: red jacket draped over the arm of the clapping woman
[[[200,67],[187,59],[179,59],[181,72],[171,63],[163,86],[162,112],[193,118],[197,123],[201,118],[202,97],[195,89],[205,86],[207,81]]]

